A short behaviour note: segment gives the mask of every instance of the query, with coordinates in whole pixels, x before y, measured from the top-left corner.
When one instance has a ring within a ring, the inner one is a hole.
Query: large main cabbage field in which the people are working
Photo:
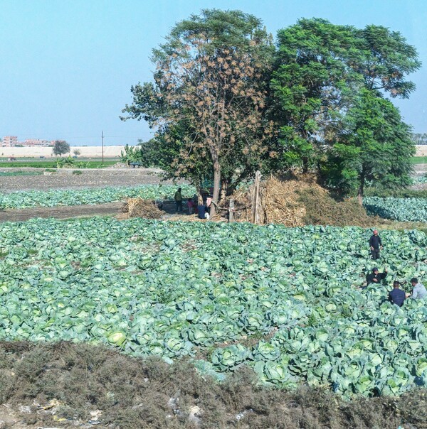
[[[381,266],[425,278],[427,237],[382,231]],[[364,286],[371,232],[93,218],[0,224],[2,340],[100,342],[223,379],[399,395],[427,381],[427,306]],[[381,267],[380,266],[380,267]]]

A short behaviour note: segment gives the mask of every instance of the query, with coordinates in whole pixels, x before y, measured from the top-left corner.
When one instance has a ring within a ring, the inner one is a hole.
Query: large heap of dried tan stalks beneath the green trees
[[[253,187],[233,195],[237,219],[251,222]],[[363,226],[371,223],[363,207],[354,200],[337,201],[311,175],[291,178],[268,178],[260,185],[258,199],[260,224],[284,224],[302,227],[305,224]]]

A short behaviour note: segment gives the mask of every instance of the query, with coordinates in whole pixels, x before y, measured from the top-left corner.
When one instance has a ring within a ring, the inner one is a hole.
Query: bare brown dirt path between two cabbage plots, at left
[[[68,219],[70,217],[108,216],[117,215],[122,202],[107,202],[107,204],[88,204],[56,207],[33,207],[30,209],[0,210],[0,222],[21,222],[34,217],[55,217]]]

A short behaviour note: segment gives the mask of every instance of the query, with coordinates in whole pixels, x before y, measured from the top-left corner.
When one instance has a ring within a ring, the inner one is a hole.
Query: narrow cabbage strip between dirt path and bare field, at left
[[[190,185],[139,185],[78,190],[30,190],[0,195],[0,209],[24,209],[28,207],[55,207],[58,205],[101,204],[120,201],[126,197],[144,200],[172,199],[177,188],[184,197],[191,197],[195,188]]]

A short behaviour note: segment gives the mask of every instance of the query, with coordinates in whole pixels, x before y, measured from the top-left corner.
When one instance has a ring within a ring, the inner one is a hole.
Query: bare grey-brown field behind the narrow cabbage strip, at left
[[[39,168],[0,168],[40,171]],[[156,185],[162,182],[161,170],[154,168],[82,168],[82,174],[73,174],[72,169],[58,169],[57,173],[43,175],[0,176],[0,192],[18,190],[102,188],[104,186]],[[162,182],[172,183],[172,182]]]

